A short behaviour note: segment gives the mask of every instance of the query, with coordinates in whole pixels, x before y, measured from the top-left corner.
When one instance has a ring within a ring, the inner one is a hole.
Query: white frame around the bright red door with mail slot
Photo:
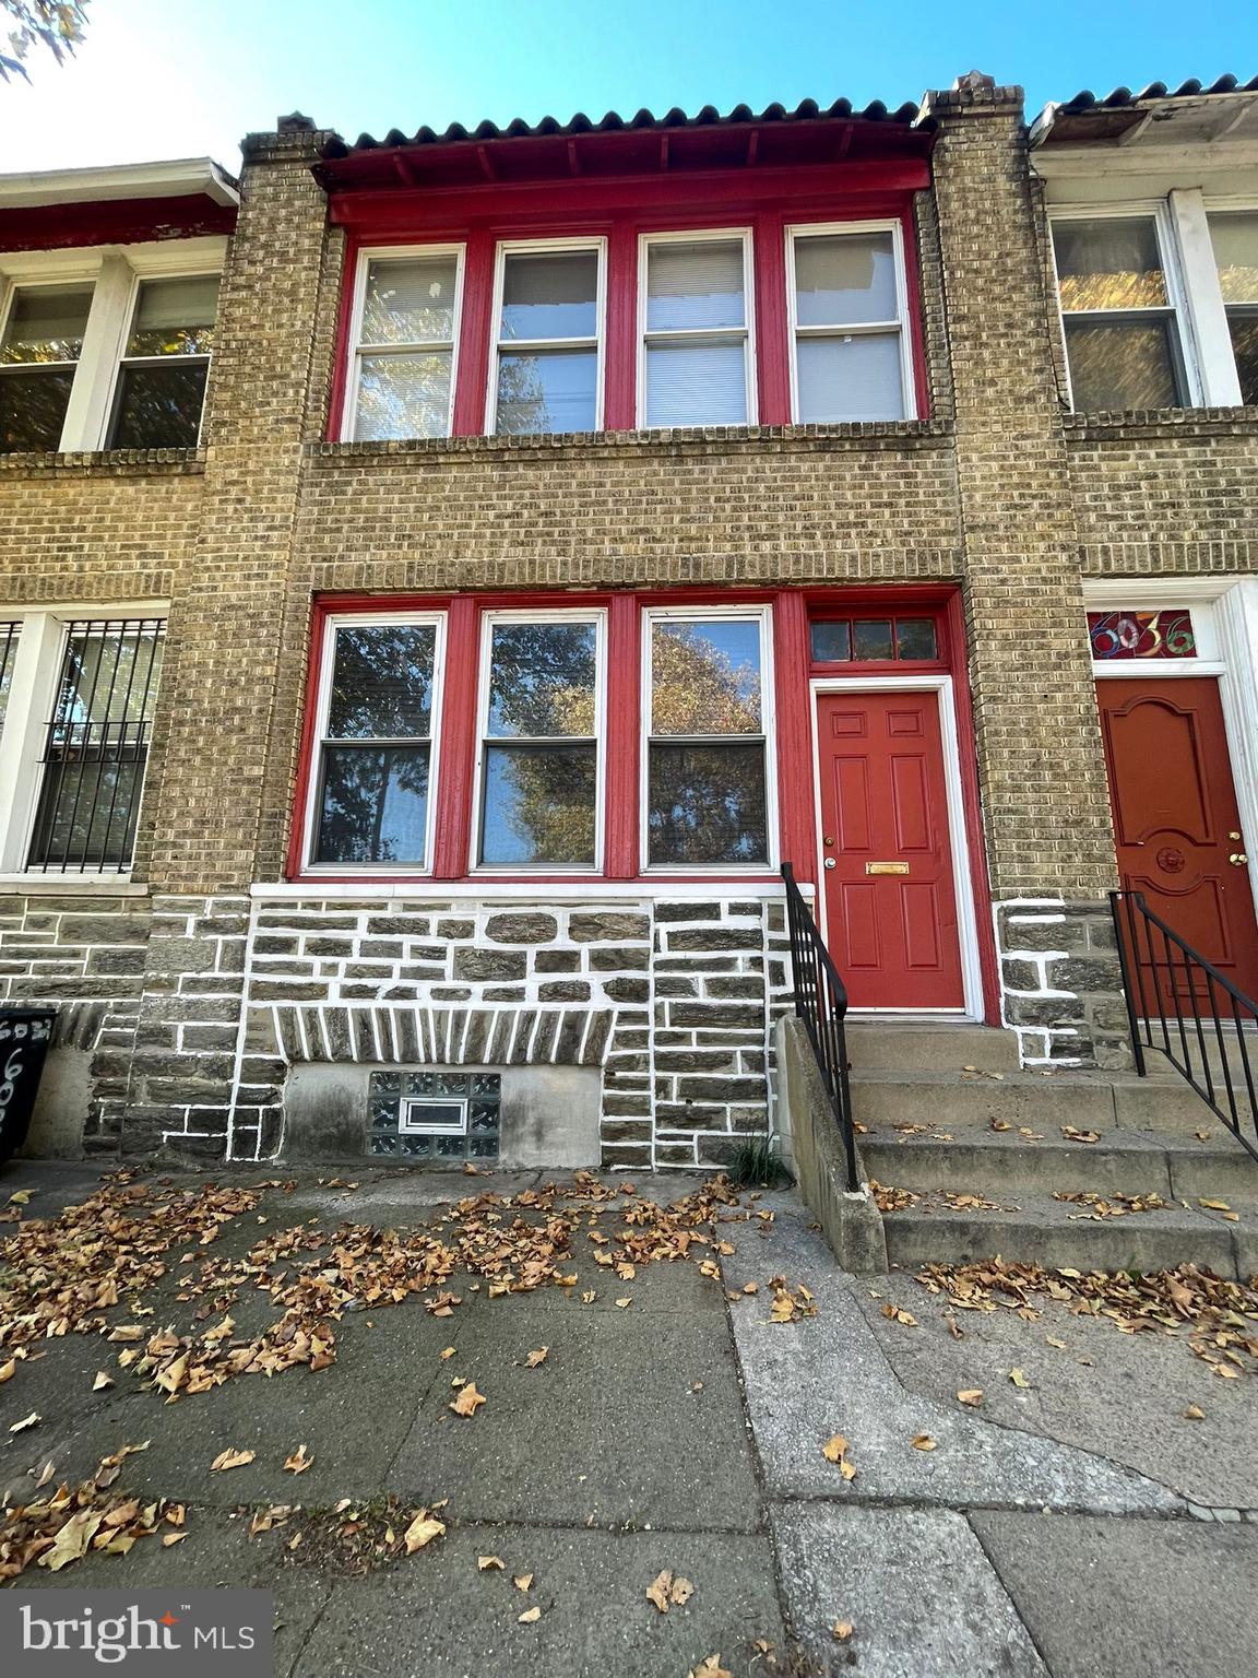
[[[959,1008],[852,1008],[852,1014],[919,1014],[928,1019],[983,1019],[983,968],[980,963],[978,915],[975,886],[969,873],[969,837],[964,821],[964,795],[961,787],[961,748],[956,732],[956,685],[948,675],[926,676],[822,676],[808,683],[812,706],[812,795],[817,826],[817,920],[822,936],[827,936],[825,899],[825,847],[822,846],[822,760],[820,730],[817,727],[817,701],[825,693],[934,693],[939,705],[939,738],[944,760],[944,789],[948,797],[948,841],[953,851],[953,893],[956,899],[956,935],[961,946],[961,987],[964,1002]]]

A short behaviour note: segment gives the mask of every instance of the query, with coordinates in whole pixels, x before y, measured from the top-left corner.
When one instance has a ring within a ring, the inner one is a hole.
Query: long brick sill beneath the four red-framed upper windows
[[[849,425],[760,425],[760,426],[678,426],[669,431],[554,431],[538,436],[433,436],[401,438],[387,443],[312,443],[307,450],[317,466],[381,465],[433,458],[523,455],[530,460],[545,453],[599,450],[616,453],[642,450],[668,453],[676,450],[715,451],[723,448],[785,446],[829,451],[869,448],[871,445],[906,446],[938,445],[953,436],[946,420],[862,420]]]

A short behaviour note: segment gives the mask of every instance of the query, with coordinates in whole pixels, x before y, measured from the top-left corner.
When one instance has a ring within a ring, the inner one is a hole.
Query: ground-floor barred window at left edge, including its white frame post
[[[5,873],[131,868],[164,644],[161,616],[0,623]]]

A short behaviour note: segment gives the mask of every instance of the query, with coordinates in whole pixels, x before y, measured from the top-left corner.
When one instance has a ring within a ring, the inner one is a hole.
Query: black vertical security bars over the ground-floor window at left
[[[164,638],[161,618],[65,626],[29,869],[131,868]]]

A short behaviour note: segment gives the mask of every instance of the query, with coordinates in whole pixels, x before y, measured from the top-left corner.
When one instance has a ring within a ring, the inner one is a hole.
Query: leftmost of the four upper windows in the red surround
[[[349,436],[450,436],[461,295],[461,245],[361,258]]]

